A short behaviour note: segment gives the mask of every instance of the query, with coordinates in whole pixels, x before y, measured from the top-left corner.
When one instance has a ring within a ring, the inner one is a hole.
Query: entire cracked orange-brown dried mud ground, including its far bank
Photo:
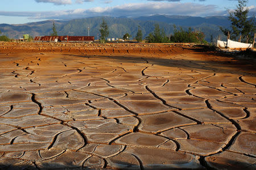
[[[255,169],[255,61],[192,45],[0,43],[0,169]]]

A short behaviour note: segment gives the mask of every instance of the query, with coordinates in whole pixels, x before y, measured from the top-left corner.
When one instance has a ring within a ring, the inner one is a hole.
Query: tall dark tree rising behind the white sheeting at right
[[[221,31],[227,35],[230,32],[230,38],[237,40],[241,36],[241,40],[246,40],[246,36],[253,38],[256,32],[255,16],[248,18],[249,8],[246,7],[248,0],[238,0],[236,10],[229,10],[228,19],[231,22],[231,30],[220,27]]]

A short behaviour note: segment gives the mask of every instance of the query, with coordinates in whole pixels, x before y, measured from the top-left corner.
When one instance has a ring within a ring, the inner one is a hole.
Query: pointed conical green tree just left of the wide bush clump
[[[146,37],[147,42],[149,43],[163,43],[170,42],[169,38],[166,36],[164,29],[160,29],[159,24],[155,24],[154,32],[151,32]]]

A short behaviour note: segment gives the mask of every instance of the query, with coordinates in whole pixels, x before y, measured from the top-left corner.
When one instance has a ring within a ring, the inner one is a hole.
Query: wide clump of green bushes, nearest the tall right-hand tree
[[[184,31],[182,27],[180,30],[174,25],[174,35],[171,35],[171,42],[194,42],[197,44],[207,44],[204,40],[204,33],[201,31],[192,31],[192,28],[188,28],[188,31]]]

